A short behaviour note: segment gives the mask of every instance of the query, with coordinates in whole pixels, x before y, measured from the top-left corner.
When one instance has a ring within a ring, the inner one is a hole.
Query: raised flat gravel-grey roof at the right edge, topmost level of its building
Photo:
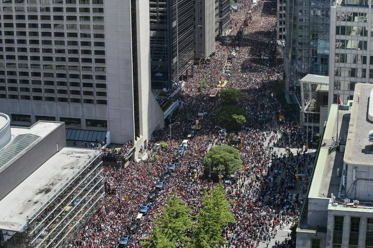
[[[350,128],[346,143],[344,161],[348,164],[373,165],[373,143],[369,141],[369,131],[373,123],[367,118],[372,84],[356,84],[352,103]]]

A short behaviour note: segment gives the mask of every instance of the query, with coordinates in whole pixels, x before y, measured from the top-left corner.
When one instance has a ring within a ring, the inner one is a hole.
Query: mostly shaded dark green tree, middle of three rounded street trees
[[[226,129],[235,130],[244,125],[248,118],[249,116],[243,109],[228,105],[220,108],[220,115],[217,117],[217,121]]]

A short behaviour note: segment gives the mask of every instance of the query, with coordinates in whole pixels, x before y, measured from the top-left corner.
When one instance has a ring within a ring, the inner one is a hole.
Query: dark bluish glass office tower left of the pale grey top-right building
[[[285,88],[298,86],[308,73],[328,75],[330,0],[286,2]]]

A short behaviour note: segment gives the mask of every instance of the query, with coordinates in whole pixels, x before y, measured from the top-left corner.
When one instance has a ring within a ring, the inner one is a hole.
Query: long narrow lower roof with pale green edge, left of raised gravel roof
[[[333,193],[338,196],[339,185],[341,178],[337,177],[337,169],[342,172],[343,153],[332,151],[329,154],[329,148],[333,145],[333,139],[336,140],[337,126],[338,136],[344,136],[348,130],[348,122],[350,120],[350,110],[337,110],[338,105],[332,104],[330,107],[329,116],[326,122],[326,128],[321,143],[319,157],[311,182],[309,198],[330,197]],[[337,114],[338,122],[337,122]]]

